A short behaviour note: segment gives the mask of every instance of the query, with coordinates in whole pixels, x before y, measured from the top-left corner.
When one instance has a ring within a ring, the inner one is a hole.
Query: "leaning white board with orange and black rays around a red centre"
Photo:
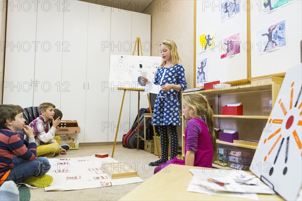
[[[286,72],[250,166],[286,200],[297,200],[302,180],[301,74],[302,63]]]

